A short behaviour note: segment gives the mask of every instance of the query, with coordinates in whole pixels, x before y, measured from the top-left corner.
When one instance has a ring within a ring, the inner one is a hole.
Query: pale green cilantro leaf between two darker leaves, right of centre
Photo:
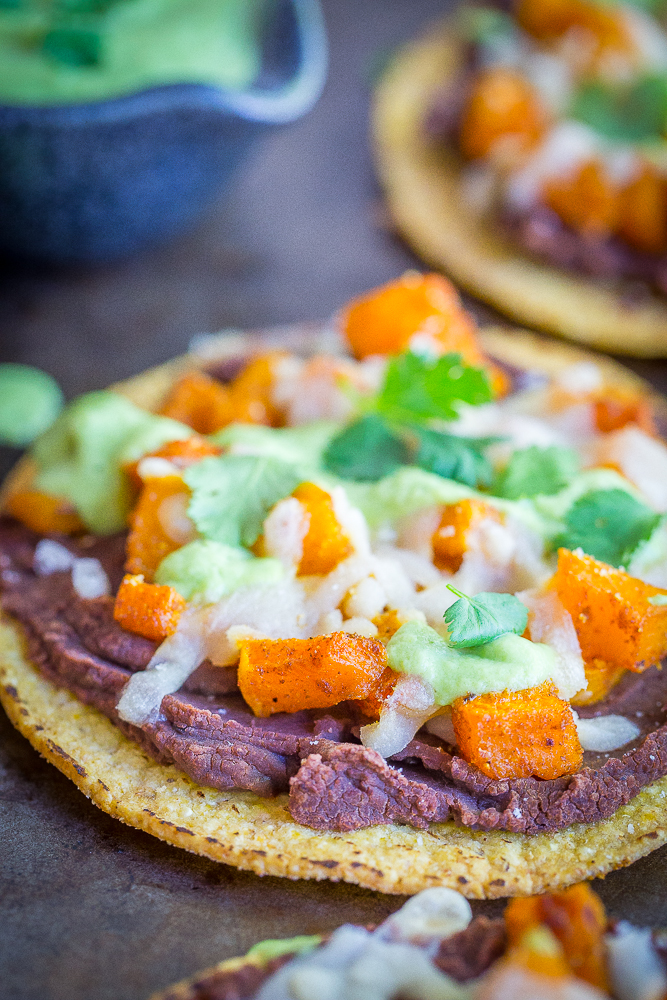
[[[578,467],[576,452],[570,448],[521,448],[496,478],[492,493],[506,500],[551,496],[568,485]]]

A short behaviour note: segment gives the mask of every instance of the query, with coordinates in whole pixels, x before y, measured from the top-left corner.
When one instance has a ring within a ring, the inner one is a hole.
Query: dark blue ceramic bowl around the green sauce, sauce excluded
[[[113,260],[191,224],[250,146],[324,85],[317,0],[276,0],[247,90],[172,84],[89,104],[0,107],[0,252]]]

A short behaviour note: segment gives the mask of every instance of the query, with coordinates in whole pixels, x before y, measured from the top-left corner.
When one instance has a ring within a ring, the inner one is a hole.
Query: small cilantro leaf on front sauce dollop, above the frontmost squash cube
[[[454,649],[469,649],[493,642],[501,635],[521,635],[528,624],[528,609],[512,594],[478,594],[467,597],[447,585],[459,598],[444,614],[449,631],[447,642]]]

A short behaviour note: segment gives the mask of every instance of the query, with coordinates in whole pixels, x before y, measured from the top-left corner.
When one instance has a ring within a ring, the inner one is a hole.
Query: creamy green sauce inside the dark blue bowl
[[[69,104],[257,77],[271,0],[0,0],[0,102]]]

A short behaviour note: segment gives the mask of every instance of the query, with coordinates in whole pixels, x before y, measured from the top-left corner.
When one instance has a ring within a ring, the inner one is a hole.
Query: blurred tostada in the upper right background
[[[664,3],[462,7],[406,47],[373,116],[400,230],[507,315],[667,356]]]

